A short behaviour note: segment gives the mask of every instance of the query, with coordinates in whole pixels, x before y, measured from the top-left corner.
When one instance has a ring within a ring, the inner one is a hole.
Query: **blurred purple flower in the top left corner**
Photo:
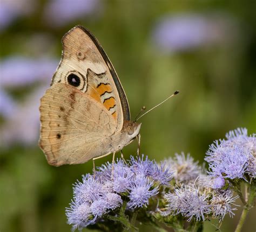
[[[36,1],[32,0],[1,1],[0,31],[8,27],[16,18],[29,15],[36,8],[36,4]]]

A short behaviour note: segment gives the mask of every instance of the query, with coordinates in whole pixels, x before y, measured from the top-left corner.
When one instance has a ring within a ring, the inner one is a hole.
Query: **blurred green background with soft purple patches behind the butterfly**
[[[92,161],[52,167],[37,146],[39,99],[65,32],[80,24],[95,34],[116,68],[132,118],[180,90],[140,120],[142,152],[160,161],[184,151],[203,164],[214,139],[238,126],[256,131],[255,3],[1,0],[0,231],[70,231],[65,207],[72,184],[92,171]],[[125,157],[136,146],[125,147]],[[96,165],[107,160],[111,156]],[[240,213],[226,216],[221,231],[233,231]],[[244,231],[255,231],[255,215],[254,208]],[[214,223],[206,222],[204,231],[215,231]]]

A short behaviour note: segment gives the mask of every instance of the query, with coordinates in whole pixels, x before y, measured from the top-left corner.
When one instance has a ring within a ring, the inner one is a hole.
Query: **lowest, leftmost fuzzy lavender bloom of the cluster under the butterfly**
[[[66,216],[73,229],[80,229],[94,222],[90,205],[86,202],[79,204],[72,201],[70,208],[66,208]]]

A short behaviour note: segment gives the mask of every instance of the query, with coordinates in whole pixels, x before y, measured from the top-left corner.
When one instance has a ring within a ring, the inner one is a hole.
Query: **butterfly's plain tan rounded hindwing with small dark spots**
[[[102,104],[80,90],[57,83],[41,99],[41,137],[39,146],[48,163],[85,163],[110,153],[107,140],[116,122]]]

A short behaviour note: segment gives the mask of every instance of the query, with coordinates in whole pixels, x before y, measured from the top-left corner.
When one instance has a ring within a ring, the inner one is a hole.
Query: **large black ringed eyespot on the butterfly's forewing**
[[[66,83],[73,87],[76,87],[82,92],[86,91],[86,78],[84,78],[84,76],[77,71],[71,71],[70,73],[68,73],[68,75],[66,75]]]

